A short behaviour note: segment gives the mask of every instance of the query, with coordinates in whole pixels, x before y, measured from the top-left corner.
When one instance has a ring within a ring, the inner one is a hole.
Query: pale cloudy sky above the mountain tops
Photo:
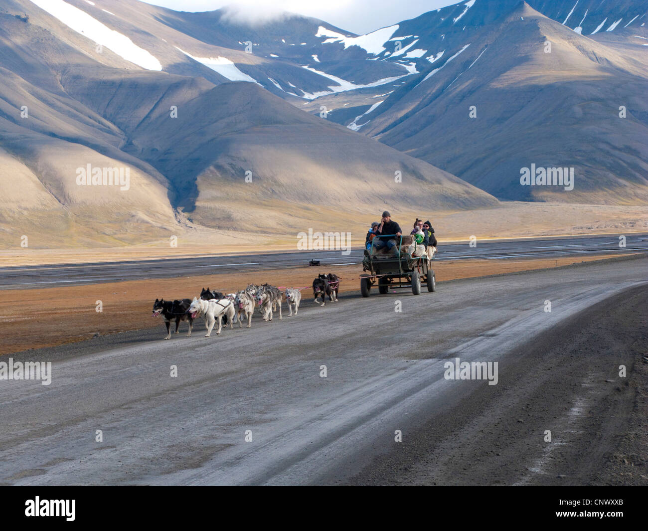
[[[363,34],[415,18],[453,0],[143,0],[177,11],[211,11],[237,5],[254,19],[276,10],[319,18],[341,29]]]

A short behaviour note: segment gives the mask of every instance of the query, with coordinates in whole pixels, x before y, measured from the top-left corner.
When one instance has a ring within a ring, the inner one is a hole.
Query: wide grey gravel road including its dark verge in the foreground
[[[181,327],[162,340],[161,325],[26,351],[14,360],[52,361],[52,382],[0,381],[0,483],[594,481],[570,452],[596,445],[572,443],[596,436],[603,453],[621,443],[634,395],[618,367],[631,373],[646,355],[645,332],[635,334],[646,307],[633,295],[645,301],[647,273],[643,257],[419,296],[346,293],[211,338],[201,320],[191,338]],[[616,328],[592,335],[619,306]],[[445,379],[457,358],[498,362],[498,383]]]

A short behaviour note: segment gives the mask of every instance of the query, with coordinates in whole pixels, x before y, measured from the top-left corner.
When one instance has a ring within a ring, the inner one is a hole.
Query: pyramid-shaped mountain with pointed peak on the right
[[[645,204],[647,66],[640,38],[598,42],[520,4],[396,88],[361,132],[499,198]],[[573,167],[573,190],[520,185],[532,163]]]

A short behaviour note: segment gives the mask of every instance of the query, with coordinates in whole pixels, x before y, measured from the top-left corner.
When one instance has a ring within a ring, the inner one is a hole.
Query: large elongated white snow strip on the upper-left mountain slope
[[[78,7],[63,0],[30,0],[43,11],[59,19],[70,29],[89,38],[117,55],[146,70],[161,70],[162,65],[152,54],[140,48],[125,35],[111,30]]]

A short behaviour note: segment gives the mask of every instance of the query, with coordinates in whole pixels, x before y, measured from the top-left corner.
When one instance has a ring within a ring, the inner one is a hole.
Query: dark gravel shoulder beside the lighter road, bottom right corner
[[[647,344],[643,285],[507,354],[498,385],[457,382],[479,388],[347,483],[646,485]]]

